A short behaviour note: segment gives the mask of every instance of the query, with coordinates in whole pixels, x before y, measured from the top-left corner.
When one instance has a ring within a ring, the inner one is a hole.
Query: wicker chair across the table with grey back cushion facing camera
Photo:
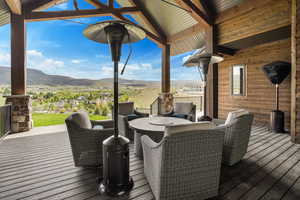
[[[196,105],[192,102],[176,102],[171,112],[163,114],[166,117],[178,117],[196,121]]]

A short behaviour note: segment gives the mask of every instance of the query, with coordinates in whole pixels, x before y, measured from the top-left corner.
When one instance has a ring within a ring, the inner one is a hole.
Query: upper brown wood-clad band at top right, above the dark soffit
[[[230,10],[219,17],[226,20],[217,21],[218,44],[223,45],[291,24],[291,0],[247,1],[250,3],[245,8],[237,7],[236,12]]]

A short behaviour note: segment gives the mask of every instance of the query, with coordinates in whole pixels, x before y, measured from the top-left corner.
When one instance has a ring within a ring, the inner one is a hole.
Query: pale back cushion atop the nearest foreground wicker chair
[[[188,124],[170,125],[165,127],[165,135],[174,135],[186,131],[213,129],[216,125],[212,122],[195,122]]]

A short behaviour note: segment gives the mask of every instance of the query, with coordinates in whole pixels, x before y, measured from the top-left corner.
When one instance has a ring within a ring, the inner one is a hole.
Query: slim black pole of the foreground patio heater
[[[118,138],[118,115],[119,115],[119,62],[114,61],[114,137]]]

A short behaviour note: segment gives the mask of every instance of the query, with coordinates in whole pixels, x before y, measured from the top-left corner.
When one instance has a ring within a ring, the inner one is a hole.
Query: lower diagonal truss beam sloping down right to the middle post
[[[96,8],[103,8],[103,9],[107,9],[108,6],[97,1],[97,0],[85,0],[86,2],[88,2],[89,4],[95,6]],[[134,22],[130,21],[129,19],[127,19],[126,17],[124,17],[121,13],[118,12],[113,12],[112,16],[116,19],[119,20],[123,20],[126,21],[128,23],[132,23],[135,24]],[[156,44],[158,44],[159,46],[162,46],[164,44],[166,44],[166,41],[163,41],[161,38],[159,38],[158,36],[156,36],[155,34],[151,33],[150,31],[148,31],[147,29],[143,29],[145,31],[145,33],[147,34],[148,38],[150,40],[152,40],[153,42],[155,42]]]

